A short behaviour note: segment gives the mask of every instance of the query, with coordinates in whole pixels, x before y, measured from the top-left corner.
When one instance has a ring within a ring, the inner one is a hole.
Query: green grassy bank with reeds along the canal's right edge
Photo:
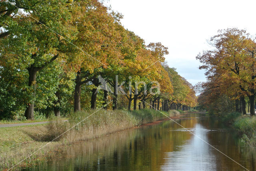
[[[232,112],[222,116],[220,120],[231,124],[238,131],[242,143],[250,147],[256,147],[256,116]]]

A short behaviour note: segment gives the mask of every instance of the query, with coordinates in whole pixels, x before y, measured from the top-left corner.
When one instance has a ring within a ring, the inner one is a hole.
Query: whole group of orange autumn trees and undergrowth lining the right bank
[[[207,70],[207,82],[201,83],[200,105],[217,112],[240,111],[255,115],[256,42],[246,30],[219,30],[209,44],[213,50],[197,56]]]

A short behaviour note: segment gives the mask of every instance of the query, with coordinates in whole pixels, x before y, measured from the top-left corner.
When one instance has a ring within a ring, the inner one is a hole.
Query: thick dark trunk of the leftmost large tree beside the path
[[[28,103],[28,106],[25,111],[25,117],[26,119],[34,120],[34,97],[36,95],[36,73],[38,70],[36,70],[34,67],[31,67],[28,69],[29,72],[29,78],[28,78],[28,86],[34,87],[33,92],[33,101]]]

